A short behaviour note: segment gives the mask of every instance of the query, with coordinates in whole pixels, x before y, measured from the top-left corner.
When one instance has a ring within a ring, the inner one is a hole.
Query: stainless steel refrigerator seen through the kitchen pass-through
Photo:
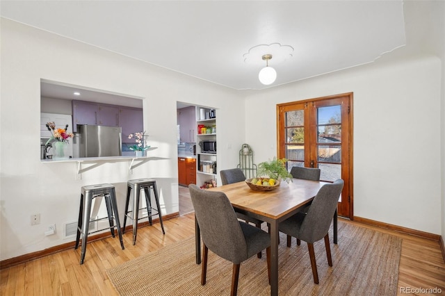
[[[122,128],[117,126],[78,125],[79,157],[122,155]]]

